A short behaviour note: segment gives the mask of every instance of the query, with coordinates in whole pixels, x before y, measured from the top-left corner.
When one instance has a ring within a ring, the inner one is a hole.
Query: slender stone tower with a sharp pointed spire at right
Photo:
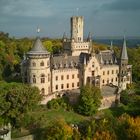
[[[124,37],[119,64],[119,86],[121,87],[122,90],[125,90],[127,85],[127,75],[128,75],[127,66],[128,66],[128,55],[126,48],[126,40]]]

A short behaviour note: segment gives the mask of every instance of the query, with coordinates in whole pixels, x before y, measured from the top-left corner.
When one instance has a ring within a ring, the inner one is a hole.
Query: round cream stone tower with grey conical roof
[[[27,83],[39,88],[41,94],[51,92],[50,54],[37,37],[32,49],[27,53]]]

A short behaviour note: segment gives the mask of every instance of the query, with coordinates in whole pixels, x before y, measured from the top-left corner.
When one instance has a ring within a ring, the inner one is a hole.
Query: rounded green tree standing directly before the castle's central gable
[[[81,88],[77,111],[83,115],[93,115],[101,104],[100,89],[86,85]]]

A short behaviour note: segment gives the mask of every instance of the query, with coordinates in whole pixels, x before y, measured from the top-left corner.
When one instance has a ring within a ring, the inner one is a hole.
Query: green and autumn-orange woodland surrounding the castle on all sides
[[[81,88],[76,105],[66,97],[38,105],[43,96],[36,87],[22,84],[20,76],[23,55],[34,40],[16,39],[0,32],[0,127],[10,122],[12,137],[34,134],[36,140],[140,139],[140,46],[127,49],[133,83],[121,93],[120,104],[98,111],[100,90],[89,87]],[[52,54],[63,50],[61,39],[42,38],[42,42]],[[93,47],[98,51],[110,46],[93,42]],[[119,57],[120,47],[113,49]],[[84,102],[92,97],[95,100]]]

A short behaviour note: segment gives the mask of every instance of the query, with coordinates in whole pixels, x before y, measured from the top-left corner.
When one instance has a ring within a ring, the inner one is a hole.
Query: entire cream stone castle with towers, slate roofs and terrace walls
[[[117,99],[114,93],[125,90],[132,82],[126,40],[124,38],[120,58],[117,59],[112,47],[95,52],[90,33],[86,40],[83,39],[82,16],[71,17],[70,23],[71,37],[68,39],[63,35],[64,52],[61,55],[51,55],[40,38],[36,38],[21,64],[22,80],[39,88],[46,98],[43,103],[86,84],[98,86],[104,97],[101,108],[110,107]]]

